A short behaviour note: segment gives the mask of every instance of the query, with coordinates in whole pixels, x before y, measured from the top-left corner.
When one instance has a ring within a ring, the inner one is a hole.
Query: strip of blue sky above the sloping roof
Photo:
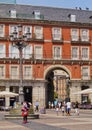
[[[86,7],[92,10],[92,0],[16,0],[17,4],[51,6],[61,8]]]

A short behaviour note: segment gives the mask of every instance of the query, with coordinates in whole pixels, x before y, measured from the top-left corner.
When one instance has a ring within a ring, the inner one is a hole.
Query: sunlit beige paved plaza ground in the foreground
[[[0,130],[92,130],[92,110],[80,110],[80,115],[58,116],[54,109],[46,110],[46,114],[40,114],[39,119],[29,119],[27,124],[22,120],[5,120],[0,112]]]

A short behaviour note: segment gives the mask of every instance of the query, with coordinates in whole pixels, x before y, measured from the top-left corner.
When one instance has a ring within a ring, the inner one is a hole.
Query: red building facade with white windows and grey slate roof
[[[12,46],[10,35],[15,31],[18,36],[21,24],[23,35],[30,32],[22,55],[24,99],[47,105],[50,90],[54,89],[55,75],[50,74],[62,70],[65,79],[69,78],[71,101],[87,101],[88,98],[92,101],[91,95],[73,95],[92,86],[91,13],[89,10],[1,4],[0,90],[20,91],[20,56],[18,49]],[[49,82],[53,89],[49,88]],[[7,105],[14,101],[6,100]]]

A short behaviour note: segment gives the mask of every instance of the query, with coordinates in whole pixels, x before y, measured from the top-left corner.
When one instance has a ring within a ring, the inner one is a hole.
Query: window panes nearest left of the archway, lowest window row
[[[32,67],[24,66],[24,79],[32,79]]]

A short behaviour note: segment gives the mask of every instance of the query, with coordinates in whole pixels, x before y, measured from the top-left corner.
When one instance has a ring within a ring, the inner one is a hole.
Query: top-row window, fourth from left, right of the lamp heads
[[[36,39],[42,39],[43,38],[43,28],[41,26],[35,26],[34,27],[34,33]]]

